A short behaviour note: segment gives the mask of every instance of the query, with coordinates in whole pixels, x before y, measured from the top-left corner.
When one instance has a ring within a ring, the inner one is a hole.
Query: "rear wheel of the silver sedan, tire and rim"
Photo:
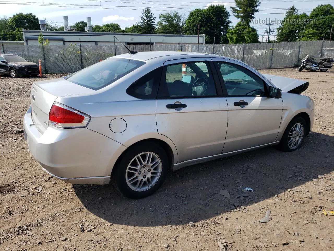
[[[169,161],[164,149],[145,142],[130,147],[115,166],[114,180],[125,196],[140,199],[153,194],[164,182]]]

